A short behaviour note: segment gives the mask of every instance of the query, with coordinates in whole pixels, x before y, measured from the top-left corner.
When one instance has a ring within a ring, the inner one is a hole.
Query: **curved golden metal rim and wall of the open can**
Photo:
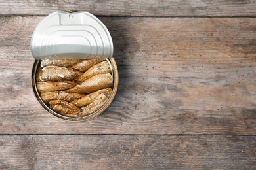
[[[116,65],[116,61],[114,58],[107,58],[106,59],[108,61],[108,63],[110,64],[110,68],[112,70],[112,77],[113,77],[113,88],[112,88],[112,93],[110,94],[110,97],[108,98],[108,100],[106,101],[106,103],[104,103],[104,105],[102,107],[100,107],[100,109],[96,110],[95,112],[93,112],[92,114],[89,114],[87,116],[82,116],[82,117],[77,117],[77,118],[71,118],[68,116],[64,116],[62,114],[59,114],[58,112],[55,112],[54,110],[50,109],[41,99],[39,92],[37,90],[37,86],[36,86],[36,73],[37,73],[37,69],[40,67],[41,65],[41,60],[35,60],[35,62],[33,63],[33,68],[32,68],[32,88],[33,88],[33,92],[35,94],[35,97],[37,98],[37,101],[40,103],[40,105],[50,114],[52,114],[53,116],[56,116],[58,118],[61,118],[62,120],[70,120],[70,121],[81,121],[81,120],[89,120],[91,118],[94,118],[98,115],[100,115],[102,112],[104,112],[104,110],[106,110],[110,104],[112,103],[116,92],[117,92],[117,86],[118,86],[118,71],[117,71],[117,65]]]

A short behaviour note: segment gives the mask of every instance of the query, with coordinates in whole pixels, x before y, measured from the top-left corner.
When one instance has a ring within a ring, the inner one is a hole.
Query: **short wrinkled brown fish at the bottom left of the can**
[[[76,107],[75,105],[64,100],[52,100],[49,103],[51,109],[64,116],[69,116],[70,114],[78,114],[81,111],[79,107]]]

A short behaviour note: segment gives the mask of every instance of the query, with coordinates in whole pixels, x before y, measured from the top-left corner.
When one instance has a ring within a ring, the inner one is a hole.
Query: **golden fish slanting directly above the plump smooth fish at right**
[[[87,71],[83,73],[83,75],[79,76],[77,78],[77,82],[84,82],[88,78],[91,78],[92,76],[98,75],[98,74],[105,74],[105,73],[111,73],[110,64],[108,61],[102,61]]]

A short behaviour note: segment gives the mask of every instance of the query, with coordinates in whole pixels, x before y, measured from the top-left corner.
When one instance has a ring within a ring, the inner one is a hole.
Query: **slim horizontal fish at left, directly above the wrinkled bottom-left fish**
[[[79,93],[67,93],[64,91],[54,91],[54,92],[41,93],[40,96],[45,103],[49,103],[49,101],[56,100],[56,99],[60,99],[64,101],[74,101],[75,99],[80,99],[85,95],[79,94]]]

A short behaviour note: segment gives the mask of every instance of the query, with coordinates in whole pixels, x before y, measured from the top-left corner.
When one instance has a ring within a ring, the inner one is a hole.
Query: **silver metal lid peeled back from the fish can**
[[[106,26],[89,12],[53,12],[33,31],[35,59],[110,58],[113,42]]]

